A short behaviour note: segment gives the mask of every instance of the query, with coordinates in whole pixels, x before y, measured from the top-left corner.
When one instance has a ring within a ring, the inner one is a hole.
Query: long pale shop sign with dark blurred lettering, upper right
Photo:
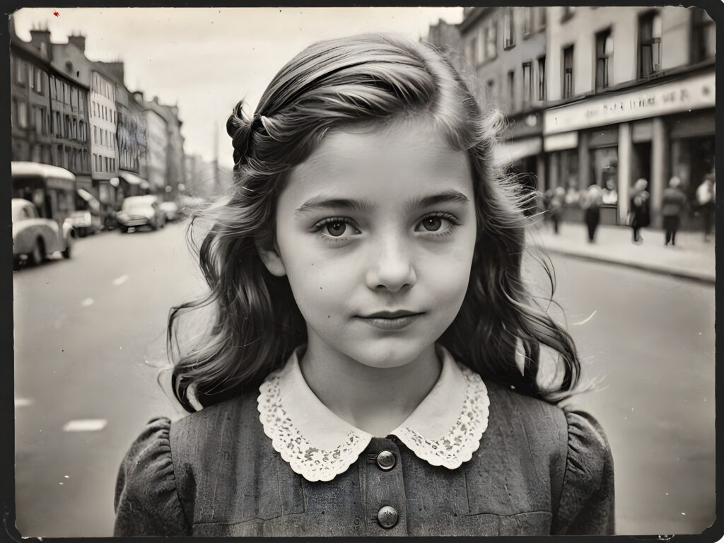
[[[613,125],[692,109],[714,107],[713,73],[664,83],[618,96],[586,98],[544,112],[544,134]]]

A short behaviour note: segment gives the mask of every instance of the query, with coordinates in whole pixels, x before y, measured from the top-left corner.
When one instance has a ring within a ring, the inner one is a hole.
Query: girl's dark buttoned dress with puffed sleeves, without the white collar
[[[486,383],[489,424],[460,468],[394,436],[344,473],[310,482],[272,448],[256,395],[148,423],[119,470],[116,536],[613,534],[613,460],[586,413]],[[397,462],[375,459],[391,451]],[[392,506],[384,527],[378,513]]]

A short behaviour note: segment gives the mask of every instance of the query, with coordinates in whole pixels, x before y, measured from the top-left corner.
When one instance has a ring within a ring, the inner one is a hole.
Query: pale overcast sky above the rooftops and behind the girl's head
[[[125,63],[129,90],[178,104],[186,153],[232,167],[226,119],[240,98],[256,108],[271,77],[313,41],[362,32],[401,33],[417,40],[440,18],[460,22],[462,8],[24,8],[15,29],[51,31],[51,41],[86,36],[91,60]],[[216,129],[215,129],[216,126]]]

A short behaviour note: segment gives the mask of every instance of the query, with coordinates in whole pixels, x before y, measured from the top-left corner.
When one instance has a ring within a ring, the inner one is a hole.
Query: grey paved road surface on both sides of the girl
[[[153,415],[182,414],[156,382],[167,310],[198,290],[182,230],[103,233],[71,261],[14,274],[22,535],[110,535],[131,439]],[[585,321],[571,330],[603,378],[575,403],[613,447],[619,533],[702,531],[715,498],[714,288],[554,258],[557,299],[570,323]],[[96,420],[105,426],[64,431]]]

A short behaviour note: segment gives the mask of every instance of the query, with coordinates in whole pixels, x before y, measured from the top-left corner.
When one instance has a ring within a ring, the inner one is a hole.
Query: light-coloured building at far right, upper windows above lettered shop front
[[[626,222],[649,181],[652,220],[673,175],[694,199],[714,170],[715,25],[699,8],[551,7],[544,150],[552,185],[596,183]]]

